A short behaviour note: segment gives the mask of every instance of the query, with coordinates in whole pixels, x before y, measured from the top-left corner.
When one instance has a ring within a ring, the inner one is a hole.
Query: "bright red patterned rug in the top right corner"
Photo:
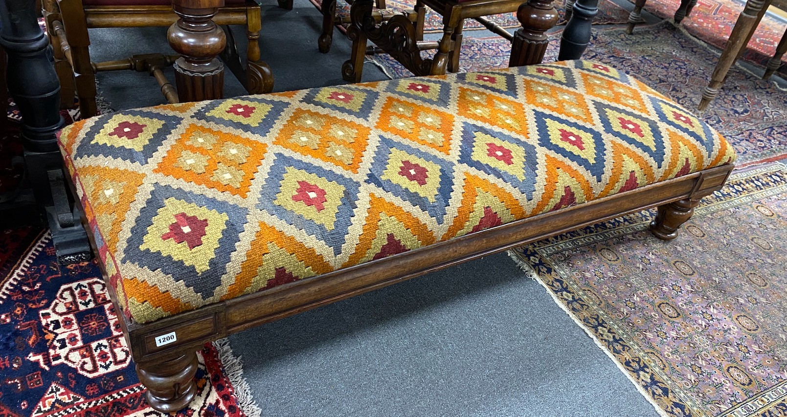
[[[630,2],[634,3],[634,0]],[[680,0],[648,0],[644,9],[658,17],[671,20],[680,4]],[[691,15],[682,20],[681,26],[697,38],[722,49],[745,5],[744,0],[698,0]],[[785,29],[785,21],[770,14],[765,15],[752,35],[752,40],[748,42],[744,58],[759,65],[766,65],[774,55]],[[634,35],[638,32],[635,29]],[[787,61],[787,56],[782,57],[782,61]],[[787,68],[782,65],[781,71],[787,73]]]

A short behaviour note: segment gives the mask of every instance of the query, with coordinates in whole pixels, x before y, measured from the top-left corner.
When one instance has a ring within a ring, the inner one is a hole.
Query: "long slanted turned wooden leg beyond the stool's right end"
[[[730,71],[730,67],[735,63],[741,48],[746,47],[746,40],[751,37],[752,31],[756,28],[755,24],[759,13],[763,9],[767,9],[769,5],[770,0],[748,0],[746,2],[746,7],[741,12],[737,22],[735,22],[730,39],[727,40],[727,44],[724,46],[722,56],[719,57],[719,61],[716,63],[716,68],[714,68],[711,75],[711,82],[708,83],[708,87],[705,87],[705,90],[702,92],[700,105],[697,106],[697,109],[706,109],[708,104],[719,94],[719,88],[722,87],[727,72]]]

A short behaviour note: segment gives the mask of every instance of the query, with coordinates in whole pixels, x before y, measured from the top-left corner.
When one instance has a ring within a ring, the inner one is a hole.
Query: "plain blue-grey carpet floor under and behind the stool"
[[[263,5],[260,44],[276,91],[343,83],[349,41],[337,31],[331,53],[317,53],[320,19],[306,0],[296,0],[291,11],[274,2]],[[245,50],[242,29],[234,32]],[[91,29],[91,54],[94,61],[172,54],[164,34],[164,28]],[[168,76],[174,79],[171,69]],[[364,68],[364,81],[385,78],[374,65]],[[98,80],[114,109],[164,102],[146,73],[103,72]],[[226,96],[245,94],[231,74],[226,82]],[[615,363],[504,254],[269,323],[230,341],[266,416],[657,415]]]

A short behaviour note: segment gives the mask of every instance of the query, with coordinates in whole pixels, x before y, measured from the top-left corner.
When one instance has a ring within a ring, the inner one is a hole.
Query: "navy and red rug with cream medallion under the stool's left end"
[[[146,403],[98,266],[61,267],[49,235],[28,229],[0,234],[0,250],[0,415],[163,415]],[[259,415],[227,341],[198,357],[197,399],[177,415]]]

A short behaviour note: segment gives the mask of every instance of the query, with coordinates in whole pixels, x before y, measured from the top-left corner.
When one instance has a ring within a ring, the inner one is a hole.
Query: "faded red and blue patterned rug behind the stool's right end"
[[[544,61],[555,61],[560,33],[553,34]],[[511,45],[499,38],[467,38],[462,45],[463,71],[508,65]],[[633,74],[687,109],[696,109],[708,85],[718,53],[668,22],[641,27],[636,36],[623,28],[593,31],[583,59]],[[368,58],[392,78],[412,76],[388,55]],[[647,68],[645,71],[644,69]],[[703,115],[732,144],[737,166],[775,161],[787,156],[787,92],[741,66],[733,66],[719,96]]]

